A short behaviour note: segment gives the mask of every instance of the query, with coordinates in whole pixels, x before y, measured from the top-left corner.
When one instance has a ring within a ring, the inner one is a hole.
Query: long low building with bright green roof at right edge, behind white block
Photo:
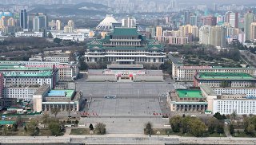
[[[247,88],[256,86],[256,78],[242,72],[199,72],[194,76],[194,87],[200,84],[213,88]]]

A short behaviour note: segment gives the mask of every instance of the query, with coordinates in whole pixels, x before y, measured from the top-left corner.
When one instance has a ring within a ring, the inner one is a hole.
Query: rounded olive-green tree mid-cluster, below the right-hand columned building
[[[190,120],[190,132],[195,136],[203,136],[206,133],[206,124],[198,118]]]

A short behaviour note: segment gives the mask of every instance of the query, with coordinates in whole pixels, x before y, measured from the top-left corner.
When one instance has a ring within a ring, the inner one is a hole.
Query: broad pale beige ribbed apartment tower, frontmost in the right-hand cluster
[[[226,29],[224,27],[216,25],[211,29],[210,45],[226,47]]]

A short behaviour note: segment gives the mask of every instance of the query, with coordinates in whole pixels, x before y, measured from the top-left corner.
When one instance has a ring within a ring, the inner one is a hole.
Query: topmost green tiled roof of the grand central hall
[[[137,32],[137,28],[114,28],[114,33],[110,33],[114,36],[134,36],[141,35]]]

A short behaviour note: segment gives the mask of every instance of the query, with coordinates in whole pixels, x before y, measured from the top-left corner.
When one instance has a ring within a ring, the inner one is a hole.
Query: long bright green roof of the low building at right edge
[[[253,76],[244,72],[199,72],[198,75],[201,79],[255,79]]]

